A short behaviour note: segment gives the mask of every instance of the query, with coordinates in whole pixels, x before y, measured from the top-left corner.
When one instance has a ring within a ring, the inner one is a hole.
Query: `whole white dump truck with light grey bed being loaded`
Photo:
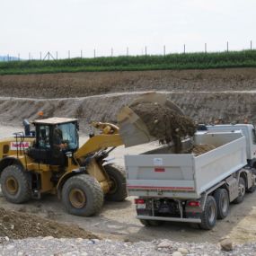
[[[191,145],[211,145],[204,154],[173,154],[157,146],[144,154],[125,155],[128,194],[135,196],[143,225],[185,222],[212,229],[256,188],[256,136],[251,124],[199,126]]]

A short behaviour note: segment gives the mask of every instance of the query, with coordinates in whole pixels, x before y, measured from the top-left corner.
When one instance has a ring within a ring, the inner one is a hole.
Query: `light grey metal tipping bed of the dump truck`
[[[126,155],[128,191],[131,196],[199,199],[202,192],[246,165],[245,137],[233,133],[198,132],[196,145],[215,149],[205,154],[170,154],[163,148],[150,154]]]

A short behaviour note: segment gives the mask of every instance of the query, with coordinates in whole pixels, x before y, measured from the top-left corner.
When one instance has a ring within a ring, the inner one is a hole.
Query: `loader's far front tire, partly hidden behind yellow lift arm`
[[[105,195],[105,199],[108,201],[120,202],[127,198],[127,180],[125,172],[118,168],[108,164],[104,166],[107,174],[112,182],[110,191]]]

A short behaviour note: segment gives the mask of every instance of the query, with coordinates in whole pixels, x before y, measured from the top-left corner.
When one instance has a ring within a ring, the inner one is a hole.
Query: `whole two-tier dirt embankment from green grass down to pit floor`
[[[88,132],[88,123],[115,122],[123,105],[149,90],[162,90],[197,122],[256,122],[256,68],[232,68],[0,75],[0,123],[21,125],[43,110],[46,117],[79,118]]]

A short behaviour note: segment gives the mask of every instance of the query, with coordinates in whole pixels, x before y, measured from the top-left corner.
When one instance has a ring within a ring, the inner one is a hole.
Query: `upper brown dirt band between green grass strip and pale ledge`
[[[0,96],[36,99],[149,90],[221,92],[255,89],[256,68],[0,75]]]

